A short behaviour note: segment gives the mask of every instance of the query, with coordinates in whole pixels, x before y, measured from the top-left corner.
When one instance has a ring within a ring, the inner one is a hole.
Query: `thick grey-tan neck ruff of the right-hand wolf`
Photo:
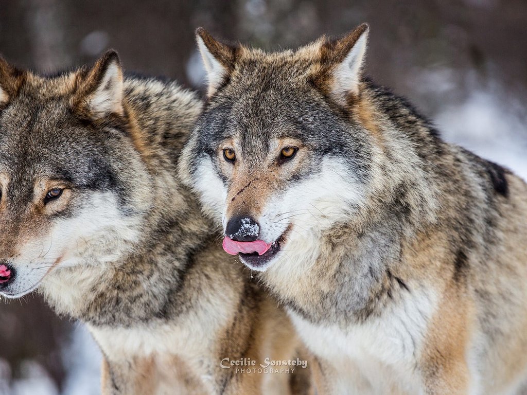
[[[289,309],[343,327],[421,289],[419,276],[446,272],[443,278],[464,281],[469,273],[456,265],[462,246],[491,237],[486,221],[496,215],[481,218],[475,206],[499,198],[489,180],[493,165],[479,160],[481,168],[470,169],[470,154],[443,142],[401,98],[364,83],[353,106],[350,123],[362,125],[373,141],[364,199],[355,208],[341,202],[338,218],[307,218],[318,225],[305,235],[291,233],[287,255],[261,275]],[[418,245],[427,259],[414,256]]]

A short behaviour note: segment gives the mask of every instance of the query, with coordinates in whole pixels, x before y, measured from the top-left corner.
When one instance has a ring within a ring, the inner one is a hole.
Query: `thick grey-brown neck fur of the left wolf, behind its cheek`
[[[177,314],[173,299],[193,251],[210,234],[195,199],[176,178],[178,152],[200,108],[197,98],[175,84],[129,78],[125,102],[130,143],[142,159],[128,185],[139,190],[132,192],[144,210],[122,215],[134,217],[140,234],[105,246],[114,250],[113,260],[101,260],[96,246],[86,248],[81,262],[55,270],[42,284],[58,312],[95,325],[126,326]]]

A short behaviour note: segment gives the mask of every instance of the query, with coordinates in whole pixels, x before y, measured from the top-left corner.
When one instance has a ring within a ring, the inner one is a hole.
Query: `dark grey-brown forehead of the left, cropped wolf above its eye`
[[[0,172],[10,185],[55,179],[97,189],[115,183],[109,145],[119,133],[75,116],[72,78],[28,76],[0,110]]]

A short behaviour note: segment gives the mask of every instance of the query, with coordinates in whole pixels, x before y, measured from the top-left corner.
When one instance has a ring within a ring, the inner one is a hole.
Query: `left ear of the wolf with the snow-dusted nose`
[[[196,30],[196,41],[207,71],[207,93],[212,96],[234,70],[239,47],[220,43],[202,27]]]

